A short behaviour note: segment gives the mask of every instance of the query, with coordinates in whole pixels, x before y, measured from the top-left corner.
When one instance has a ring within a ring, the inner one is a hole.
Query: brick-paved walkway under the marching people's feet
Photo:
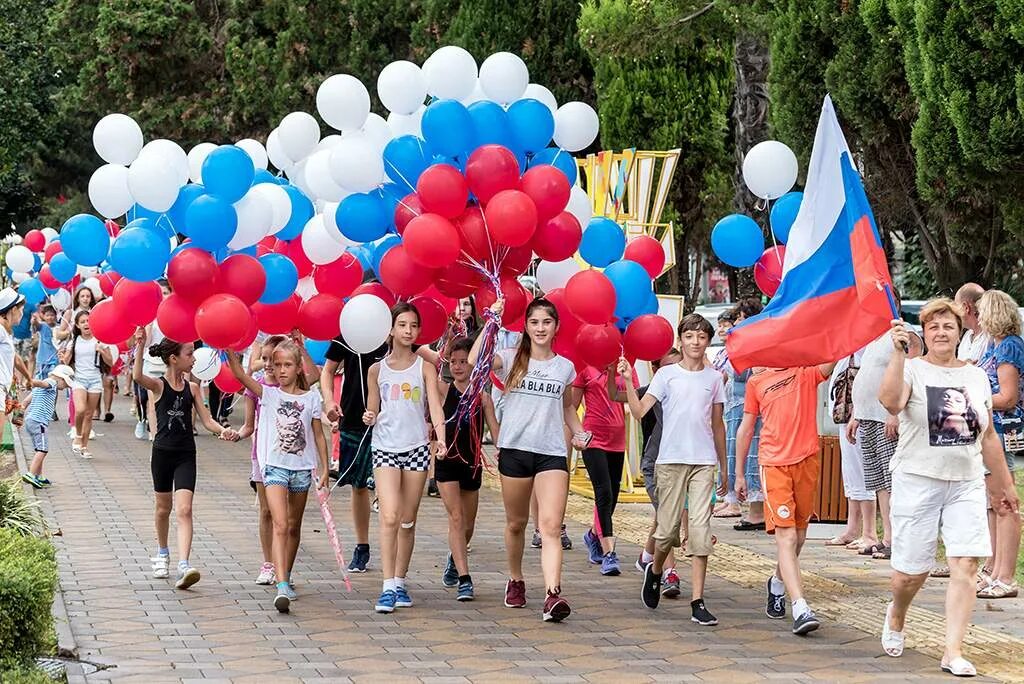
[[[310,498],[296,567],[299,599],[291,614],[282,615],[270,605],[271,588],[253,584],[260,558],[249,446],[209,436],[199,440],[195,502],[193,561],[203,580],[189,591],[175,591],[171,582],[150,576],[155,545],[150,445],[132,437],[127,404],[117,410],[119,422],[97,426],[105,434],[93,443],[91,461],[72,455],[67,437],[53,435],[46,467],[56,485],[40,493],[58,535],[63,599],[80,657],[103,668],[88,681],[944,679],[937,660],[941,650],[936,651],[941,627],[930,610],[941,610],[940,586],[926,589],[913,616],[911,645],[921,650],[889,658],[881,654],[877,637],[884,570],[857,569],[867,561],[812,546],[808,594],[826,621],[822,630],[801,639],[790,634],[788,621],[764,616],[761,586],[771,568],[769,543],[719,522],[721,542],[707,598],[721,624],[699,628],[688,619],[686,601],[664,601],[656,611],[640,603],[632,542],[645,533],[646,511],[626,507],[616,513],[625,571],[602,578],[580,549],[590,503],[574,496],[568,523],[577,548],[566,555],[563,581],[573,612],[564,624],[541,622],[543,583],[535,550],[526,552],[529,606],[502,605],[504,517],[498,493],[487,487],[470,555],[476,601],[458,603],[454,590],[440,584],[446,537],[438,500],[424,499],[421,509],[410,573],[416,607],[378,615],[372,606],[380,576],[354,575],[352,591],[345,591]],[[332,502],[349,549],[347,491],[336,490]],[[171,553],[173,564],[173,548]],[[376,555],[372,565],[379,567]],[[685,584],[688,573],[682,574]],[[1020,616],[1016,601],[1004,605]],[[972,629],[968,655],[985,674],[1024,679],[1021,623],[989,619],[984,609],[977,617],[986,628]]]

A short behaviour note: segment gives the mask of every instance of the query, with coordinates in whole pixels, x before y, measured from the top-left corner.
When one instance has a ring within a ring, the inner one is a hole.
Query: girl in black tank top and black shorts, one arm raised
[[[191,551],[191,502],[196,490],[196,437],[193,434],[193,410],[199,414],[203,425],[221,439],[234,440],[238,434],[214,422],[203,404],[199,386],[188,381],[191,373],[195,346],[165,338],[150,347],[150,353],[160,356],[167,364],[167,372],[160,379],[142,373],[145,352],[145,332],[137,333],[137,349],[132,376],[144,387],[155,402],[157,433],[153,440],[150,468],[153,472],[153,489],[156,497],[154,515],[157,528],[157,556],[153,559],[153,576],[167,578],[170,550],[167,538],[170,527],[171,506],[177,511],[178,574],[175,586],[187,589],[199,582],[200,572],[188,562]]]

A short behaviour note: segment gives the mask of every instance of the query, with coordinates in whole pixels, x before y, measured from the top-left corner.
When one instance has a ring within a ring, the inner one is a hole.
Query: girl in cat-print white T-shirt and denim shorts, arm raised
[[[259,400],[256,459],[273,522],[273,564],[283,570],[278,574],[273,606],[288,612],[295,598],[291,567],[299,548],[299,527],[290,521],[305,510],[313,471],[318,475],[317,488],[328,483],[319,394],[309,390],[302,352],[292,342],[282,342],[273,349],[276,387],[263,385],[247,374],[238,353],[230,352],[227,358],[234,377]]]

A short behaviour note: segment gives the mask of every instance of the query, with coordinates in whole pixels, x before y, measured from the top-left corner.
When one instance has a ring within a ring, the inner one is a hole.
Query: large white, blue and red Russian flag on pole
[[[849,356],[889,330],[892,279],[850,148],[825,96],[782,282],[725,340],[736,371]]]

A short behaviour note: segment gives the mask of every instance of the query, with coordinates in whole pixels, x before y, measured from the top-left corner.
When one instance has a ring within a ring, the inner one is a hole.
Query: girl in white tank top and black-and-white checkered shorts
[[[342,331],[344,333],[344,331]],[[408,608],[413,599],[406,573],[416,543],[416,515],[431,455],[444,451],[444,412],[435,382],[437,369],[413,351],[420,313],[407,302],[391,309],[391,352],[367,374],[367,411],[373,427],[371,451],[380,506],[381,568],[384,587],[377,612]],[[433,425],[433,441],[426,411]]]

